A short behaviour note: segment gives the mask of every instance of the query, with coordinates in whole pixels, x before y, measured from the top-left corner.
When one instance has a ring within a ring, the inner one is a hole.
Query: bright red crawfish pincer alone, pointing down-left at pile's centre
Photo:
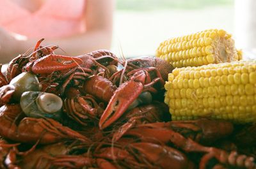
[[[138,98],[143,91],[143,84],[140,82],[129,81],[120,85],[109,100],[106,110],[103,112],[99,121],[99,128],[104,129],[115,122],[129,105]]]

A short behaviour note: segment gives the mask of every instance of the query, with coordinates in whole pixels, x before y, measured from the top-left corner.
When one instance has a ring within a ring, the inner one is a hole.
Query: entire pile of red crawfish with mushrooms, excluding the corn
[[[167,62],[41,42],[0,73],[0,168],[256,168],[255,125],[172,121]]]

